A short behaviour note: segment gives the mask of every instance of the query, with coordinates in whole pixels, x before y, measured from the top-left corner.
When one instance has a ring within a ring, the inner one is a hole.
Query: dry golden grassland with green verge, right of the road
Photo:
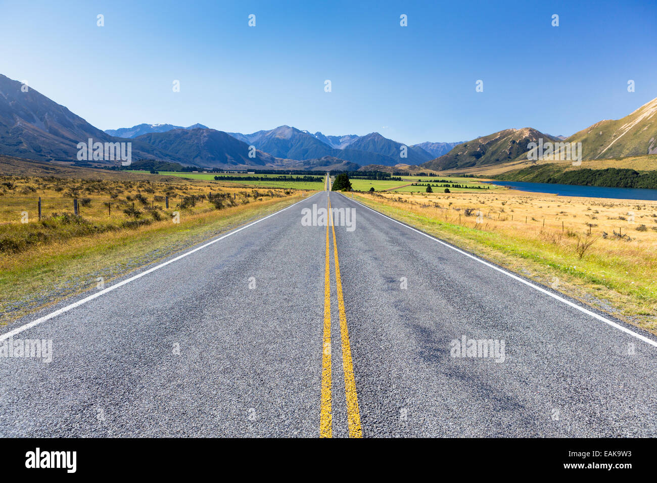
[[[657,333],[657,202],[508,190],[356,199]]]

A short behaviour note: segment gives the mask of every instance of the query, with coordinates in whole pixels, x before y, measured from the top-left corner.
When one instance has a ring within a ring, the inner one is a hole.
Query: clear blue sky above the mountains
[[[100,129],[570,135],[657,97],[656,49],[654,0],[0,0],[0,73]]]

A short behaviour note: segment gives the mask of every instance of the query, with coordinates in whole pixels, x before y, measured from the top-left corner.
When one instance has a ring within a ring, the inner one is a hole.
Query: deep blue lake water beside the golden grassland
[[[605,188],[598,186],[557,185],[553,183],[526,183],[525,181],[485,181],[493,185],[533,193],[554,193],[561,196],[586,196],[588,198],[617,198],[621,200],[657,200],[657,189]]]

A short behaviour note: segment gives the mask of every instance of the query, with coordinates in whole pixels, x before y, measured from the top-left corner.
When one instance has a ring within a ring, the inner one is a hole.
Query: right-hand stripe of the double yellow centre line
[[[362,438],[363,430],[361,430],[361,414],[358,410],[356,382],[353,379],[353,363],[351,361],[351,346],[349,343],[349,331],[347,329],[347,313],[344,310],[344,298],[342,298],[342,279],[340,279],[340,264],[338,262],[338,244],[335,239],[335,227],[333,225],[333,216],[330,210],[330,200],[328,200],[328,218],[330,219],[330,226],[333,231],[333,256],[335,258],[335,279],[338,287],[338,312],[340,313],[340,334],[342,336],[342,369],[344,370],[344,392],[347,396],[349,437]]]

